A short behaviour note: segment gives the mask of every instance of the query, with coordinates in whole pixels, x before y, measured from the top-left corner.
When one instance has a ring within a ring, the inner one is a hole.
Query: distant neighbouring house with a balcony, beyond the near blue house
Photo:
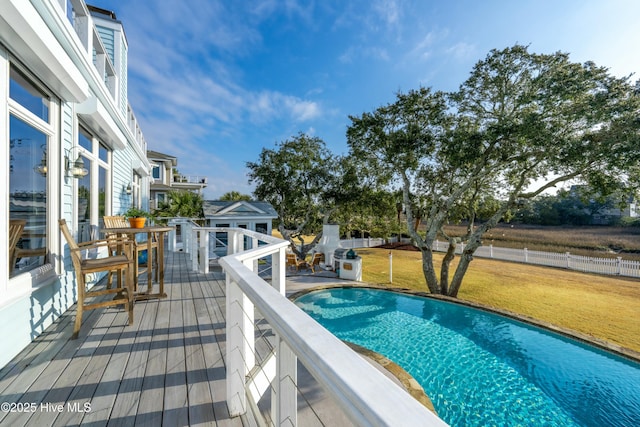
[[[157,151],[147,151],[151,163],[151,188],[149,206],[155,209],[167,200],[171,190],[189,190],[202,193],[207,186],[207,177],[177,173],[178,158]]]

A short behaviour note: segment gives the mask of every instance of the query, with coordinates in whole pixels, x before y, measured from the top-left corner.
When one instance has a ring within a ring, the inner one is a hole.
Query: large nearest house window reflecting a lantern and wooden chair
[[[47,262],[51,97],[11,64],[9,71],[9,276]],[[5,243],[7,244],[7,243]]]

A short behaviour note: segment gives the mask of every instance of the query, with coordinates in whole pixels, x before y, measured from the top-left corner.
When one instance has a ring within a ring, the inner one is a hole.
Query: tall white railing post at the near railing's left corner
[[[229,276],[226,278],[227,406],[232,417],[247,411],[245,379],[255,365],[253,304]]]

